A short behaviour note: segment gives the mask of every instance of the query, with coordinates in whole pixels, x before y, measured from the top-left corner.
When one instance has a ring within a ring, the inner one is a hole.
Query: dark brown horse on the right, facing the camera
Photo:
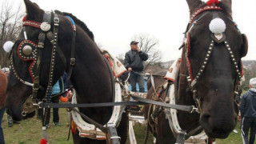
[[[186,2],[190,22],[174,82],[174,98],[176,104],[198,108],[198,113],[178,110],[178,123],[187,134],[191,130],[198,134],[202,129],[210,138],[226,138],[237,123],[238,106],[234,98],[242,75],[241,58],[247,53],[246,36],[232,20],[231,0],[213,1],[209,5],[200,0]],[[164,82],[154,79],[155,87]],[[154,93],[149,90],[147,97],[155,98]],[[168,102],[165,98],[166,90],[158,100]],[[154,131],[157,143],[175,143],[177,135],[174,136],[163,111],[164,108],[157,107],[148,114],[153,124],[150,130]]]

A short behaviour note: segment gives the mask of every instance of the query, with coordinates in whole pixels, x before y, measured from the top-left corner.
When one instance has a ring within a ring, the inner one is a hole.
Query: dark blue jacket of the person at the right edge
[[[256,118],[256,89],[252,88],[242,95],[241,116]]]

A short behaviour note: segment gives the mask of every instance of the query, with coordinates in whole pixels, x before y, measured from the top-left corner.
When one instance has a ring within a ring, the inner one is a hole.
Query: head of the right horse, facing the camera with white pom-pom
[[[185,91],[190,91],[187,93],[198,105],[206,134],[226,138],[237,123],[234,92],[242,76],[246,36],[232,20],[231,0],[209,1],[208,5],[200,0],[187,3],[190,23],[182,51],[182,73],[189,75]],[[179,93],[178,98],[182,95]]]

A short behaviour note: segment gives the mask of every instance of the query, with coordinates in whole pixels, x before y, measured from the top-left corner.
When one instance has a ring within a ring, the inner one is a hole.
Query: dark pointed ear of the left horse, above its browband
[[[40,21],[42,19],[43,10],[39,8],[39,6],[30,2],[30,0],[24,0],[26,6],[26,18],[34,21]]]

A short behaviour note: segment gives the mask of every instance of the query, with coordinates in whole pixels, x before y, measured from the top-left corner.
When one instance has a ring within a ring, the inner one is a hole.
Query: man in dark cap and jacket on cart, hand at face
[[[136,41],[130,42],[130,49],[126,53],[124,65],[130,71],[131,91],[137,92],[136,83],[138,82],[139,92],[144,93],[143,61],[146,61],[149,56],[139,49],[138,42]]]

